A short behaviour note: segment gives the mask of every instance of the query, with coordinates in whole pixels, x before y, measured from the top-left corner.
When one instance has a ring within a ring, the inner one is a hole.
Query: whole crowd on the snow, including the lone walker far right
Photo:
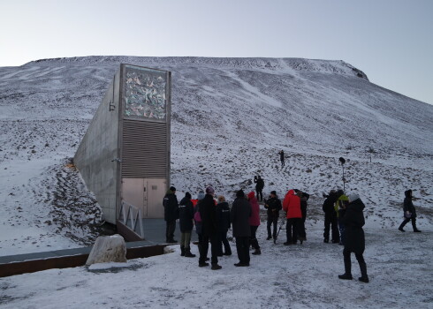
[[[262,193],[264,182],[262,178],[254,177],[256,193]],[[233,237],[236,238],[236,249],[239,262],[237,267],[247,267],[250,264],[249,250],[252,246],[252,254],[261,254],[261,248],[256,237],[256,231],[260,225],[260,207],[254,192],[247,195],[243,190],[236,192],[236,199],[229,207],[224,196],[218,196],[215,200],[215,190],[208,186],[205,192],[199,192],[197,200],[192,200],[189,192],[180,201],[179,205],[175,195],[176,188],[171,187],[163,200],[164,218],[167,222],[166,241],[176,243],[173,238],[176,219],[179,218],[181,231],[180,249],[181,255],[195,257],[190,251],[191,233],[196,227],[199,237],[199,267],[209,266],[207,257],[209,242],[211,246],[211,269],[221,269],[218,265],[218,257],[232,255],[232,249],[227,240],[227,231],[232,226]],[[261,195],[261,194],[260,194]],[[421,232],[416,228],[416,212],[412,202],[412,190],[405,192],[404,216],[405,220],[400,224],[399,230],[407,222],[412,221],[414,232]],[[361,198],[355,194],[346,195],[341,189],[331,190],[329,194],[323,194],[324,231],[323,242],[344,245],[343,257],[345,273],[338,275],[343,280],[351,280],[351,253],[358,260],[361,277],[359,280],[368,283],[367,265],[363,258],[365,250],[365,236],[362,227],[365,224],[363,209],[365,208]],[[289,190],[285,194],[283,202],[278,199],[277,192],[271,191],[270,198],[264,200],[267,209],[267,240],[277,239],[277,224],[279,212],[286,213],[286,241],[284,245],[294,245],[297,241],[302,244],[307,240],[305,220],[307,217],[307,201],[309,194],[300,190]],[[174,221],[174,222],[173,222]],[[272,230],[271,230],[272,228]],[[330,238],[331,237],[331,238]]]

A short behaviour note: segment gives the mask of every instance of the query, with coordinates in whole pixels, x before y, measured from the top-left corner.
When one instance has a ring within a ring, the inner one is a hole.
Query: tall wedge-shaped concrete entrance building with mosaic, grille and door
[[[122,201],[142,218],[163,218],[170,185],[171,72],[120,64],[73,162],[105,221]]]

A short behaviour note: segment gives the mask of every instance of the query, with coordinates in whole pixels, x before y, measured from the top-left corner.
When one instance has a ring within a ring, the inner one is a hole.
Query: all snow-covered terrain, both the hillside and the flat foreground
[[[232,256],[214,272],[170,253],[112,271],[17,275],[0,279],[1,307],[431,307],[433,106],[342,61],[77,57],[0,68],[0,256],[91,245],[101,232],[101,210],[70,158],[120,63],[172,72],[179,192],[212,184],[232,200],[254,175],[265,194],[298,188],[311,194],[308,242],[272,245],[262,225],[263,254],[250,268],[234,268]],[[367,205],[368,284],[336,279],[341,247],[322,242],[322,192],[343,186],[340,156],[346,191]],[[408,188],[422,234],[397,230]]]

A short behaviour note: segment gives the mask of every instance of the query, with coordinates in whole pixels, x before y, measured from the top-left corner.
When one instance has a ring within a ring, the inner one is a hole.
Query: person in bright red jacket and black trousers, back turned
[[[285,200],[283,200],[283,210],[287,213],[285,223],[285,233],[287,241],[285,245],[294,245],[298,240],[298,234],[300,243],[305,240],[305,235],[300,228],[300,221],[302,220],[302,212],[300,211],[300,198],[295,195],[294,190],[289,190],[285,194]]]

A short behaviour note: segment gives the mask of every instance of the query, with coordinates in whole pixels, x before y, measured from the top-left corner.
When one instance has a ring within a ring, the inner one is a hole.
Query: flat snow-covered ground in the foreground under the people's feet
[[[266,241],[249,268],[236,268],[234,255],[220,270],[199,268],[196,258],[175,252],[129,260],[125,268],[50,269],[0,279],[1,308],[431,308],[431,231],[401,233],[366,229],[364,253],[370,283],[344,272],[342,247],[323,244],[322,224],[308,224],[308,241],[285,246]],[[284,234],[284,231],[282,232]],[[196,254],[197,246],[192,251]]]

